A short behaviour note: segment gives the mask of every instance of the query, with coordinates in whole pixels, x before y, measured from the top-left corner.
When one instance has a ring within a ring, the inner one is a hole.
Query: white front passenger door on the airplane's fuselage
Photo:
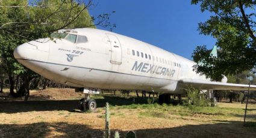
[[[118,38],[115,35],[107,34],[111,43],[111,64],[122,64],[122,48]]]

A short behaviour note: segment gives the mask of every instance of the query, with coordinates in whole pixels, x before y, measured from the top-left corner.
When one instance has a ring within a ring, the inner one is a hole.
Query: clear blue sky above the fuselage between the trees
[[[191,58],[198,45],[211,49],[214,38],[199,35],[198,23],[210,17],[201,13],[199,5],[189,0],[96,0],[96,7],[89,10],[92,16],[111,14],[110,22],[117,25],[113,32],[145,41],[169,52]],[[109,28],[101,28],[110,30]]]

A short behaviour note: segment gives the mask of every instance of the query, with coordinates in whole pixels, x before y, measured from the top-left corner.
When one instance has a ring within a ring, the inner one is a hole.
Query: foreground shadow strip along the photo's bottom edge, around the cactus
[[[254,122],[255,124],[255,122]],[[102,129],[104,126],[102,126]],[[173,128],[134,130],[137,137],[255,137],[255,125],[243,127],[242,122],[219,122],[217,124],[185,125]],[[114,134],[112,130],[111,134]],[[125,137],[127,131],[120,131]],[[87,125],[67,124],[66,122],[34,124],[2,124],[0,137],[102,137],[103,130],[92,129]]]

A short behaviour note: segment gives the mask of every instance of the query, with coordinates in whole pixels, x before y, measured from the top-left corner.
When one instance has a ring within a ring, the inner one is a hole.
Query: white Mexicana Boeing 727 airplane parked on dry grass
[[[216,50],[216,49],[214,49]],[[212,52],[216,53],[216,52]],[[110,31],[92,28],[61,29],[50,38],[17,46],[14,58],[37,74],[83,92],[80,110],[95,110],[91,94],[101,89],[185,94],[193,86],[204,90],[247,91],[248,85],[214,82],[193,71],[196,63],[159,47]],[[256,91],[256,85],[251,85]]]

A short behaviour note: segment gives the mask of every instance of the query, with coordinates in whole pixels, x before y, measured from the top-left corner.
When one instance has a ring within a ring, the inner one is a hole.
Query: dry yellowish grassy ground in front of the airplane
[[[47,95],[49,94],[49,95]],[[54,96],[52,96],[54,95]],[[135,94],[131,94],[135,96]],[[249,104],[243,127],[245,104],[219,103],[217,107],[147,104],[146,99],[120,94],[93,97],[96,112],[75,109],[83,95],[70,89],[34,91],[31,99],[0,100],[0,137],[102,137],[104,105],[110,103],[111,133],[121,137],[136,131],[137,137],[255,137],[256,104]]]

